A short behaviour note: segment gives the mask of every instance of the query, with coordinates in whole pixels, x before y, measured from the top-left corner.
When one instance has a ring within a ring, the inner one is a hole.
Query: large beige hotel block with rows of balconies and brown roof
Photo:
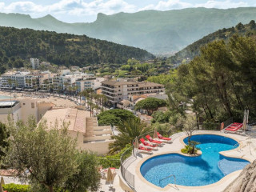
[[[117,106],[118,102],[128,98],[130,94],[156,94],[164,92],[165,87],[154,82],[134,82],[129,79],[102,82],[102,94],[106,95],[113,106]]]

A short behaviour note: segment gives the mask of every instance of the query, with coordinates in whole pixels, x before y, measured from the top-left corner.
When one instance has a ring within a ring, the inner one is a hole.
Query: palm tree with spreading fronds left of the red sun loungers
[[[141,122],[139,118],[130,118],[126,122],[120,123],[117,130],[120,134],[112,136],[114,142],[109,145],[111,154],[122,150],[127,144],[132,145],[134,138],[150,132],[151,128],[146,126],[145,122]]]

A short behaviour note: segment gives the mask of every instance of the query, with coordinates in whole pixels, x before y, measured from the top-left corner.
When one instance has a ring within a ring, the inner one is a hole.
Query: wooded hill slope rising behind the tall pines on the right
[[[234,35],[241,35],[246,37],[256,37],[256,24],[254,20],[250,21],[249,24],[243,25],[241,22],[237,26],[230,27],[228,29],[223,28],[222,30],[217,30],[212,34],[208,34],[205,37],[193,42],[189,46],[186,46],[183,50],[178,51],[174,56],[168,58],[170,63],[180,64],[184,59],[190,61],[195,56],[200,54],[200,48],[206,46],[207,43],[213,42],[214,40],[228,40]]]

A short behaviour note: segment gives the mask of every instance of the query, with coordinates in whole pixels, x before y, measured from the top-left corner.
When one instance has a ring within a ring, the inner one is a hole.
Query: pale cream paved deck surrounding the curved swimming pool
[[[207,131],[199,130],[195,131],[194,134],[217,134],[233,138],[239,142],[238,148],[234,150],[227,150],[221,152],[224,156],[231,158],[242,158],[246,159],[249,162],[253,162],[256,159],[256,137],[251,137],[249,135],[242,134],[225,134],[220,131]],[[155,186],[154,184],[146,181],[146,179],[140,173],[140,166],[148,158],[152,158],[155,155],[159,154],[170,154],[170,153],[180,153],[180,150],[184,147],[183,138],[186,138],[185,133],[174,134],[172,137],[172,143],[166,143],[164,146],[158,147],[158,150],[154,150],[153,154],[142,154],[139,153],[137,158],[131,156],[126,159],[125,167],[130,173],[134,174],[134,188],[136,191],[146,191],[146,192],[155,192],[155,191],[179,191],[179,192],[218,192],[222,191],[229,186],[231,182],[242,172],[242,170],[235,171],[231,174],[226,175],[220,181],[215,182],[214,184],[208,186],[175,186],[174,184],[169,184],[164,188]],[[193,177],[193,173],[191,174]],[[121,174],[120,174],[121,175]],[[122,176],[121,176],[122,177]]]

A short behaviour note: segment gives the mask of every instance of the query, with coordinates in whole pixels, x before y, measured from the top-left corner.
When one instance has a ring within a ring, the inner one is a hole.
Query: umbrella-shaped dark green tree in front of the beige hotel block
[[[159,107],[166,106],[166,101],[159,98],[145,98],[135,105],[135,110],[146,110],[148,114],[152,114]]]

